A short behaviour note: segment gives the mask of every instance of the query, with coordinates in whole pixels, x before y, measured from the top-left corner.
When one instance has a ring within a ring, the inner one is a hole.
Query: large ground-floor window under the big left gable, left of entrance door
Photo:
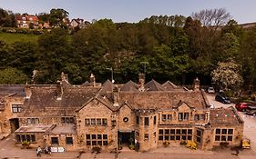
[[[108,134],[87,134],[87,145],[108,145]]]

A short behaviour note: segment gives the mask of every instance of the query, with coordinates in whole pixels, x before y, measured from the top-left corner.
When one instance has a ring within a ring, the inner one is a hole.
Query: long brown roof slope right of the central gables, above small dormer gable
[[[127,102],[134,109],[166,110],[176,108],[180,102],[185,102],[196,109],[205,109],[209,106],[201,91],[120,92],[119,98],[121,103]]]

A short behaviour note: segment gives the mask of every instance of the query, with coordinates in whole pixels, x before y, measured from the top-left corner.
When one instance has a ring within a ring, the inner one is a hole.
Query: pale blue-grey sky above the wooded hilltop
[[[137,23],[151,15],[184,15],[203,9],[226,8],[239,24],[256,22],[256,0],[0,0],[0,8],[36,15],[62,8],[69,18],[112,19]]]

